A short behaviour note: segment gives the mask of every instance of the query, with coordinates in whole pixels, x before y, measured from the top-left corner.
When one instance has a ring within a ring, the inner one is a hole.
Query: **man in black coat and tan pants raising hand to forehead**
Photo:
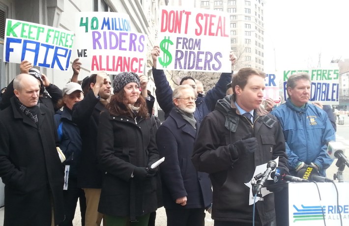
[[[85,99],[73,107],[72,119],[80,128],[83,142],[78,186],[85,192],[85,226],[100,225],[103,216],[98,213],[98,203],[102,188],[102,171],[97,160],[97,129],[99,114],[107,111],[105,106],[111,94],[111,81],[107,73],[99,72],[89,78],[90,91]]]

